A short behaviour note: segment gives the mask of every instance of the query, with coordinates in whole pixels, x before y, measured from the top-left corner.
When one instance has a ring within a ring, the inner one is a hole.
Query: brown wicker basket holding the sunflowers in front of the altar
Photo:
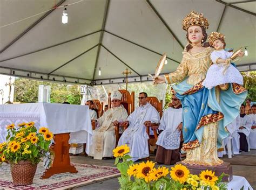
[[[31,161],[18,161],[18,164],[11,164],[11,177],[14,185],[30,185],[36,173],[37,164]]]

